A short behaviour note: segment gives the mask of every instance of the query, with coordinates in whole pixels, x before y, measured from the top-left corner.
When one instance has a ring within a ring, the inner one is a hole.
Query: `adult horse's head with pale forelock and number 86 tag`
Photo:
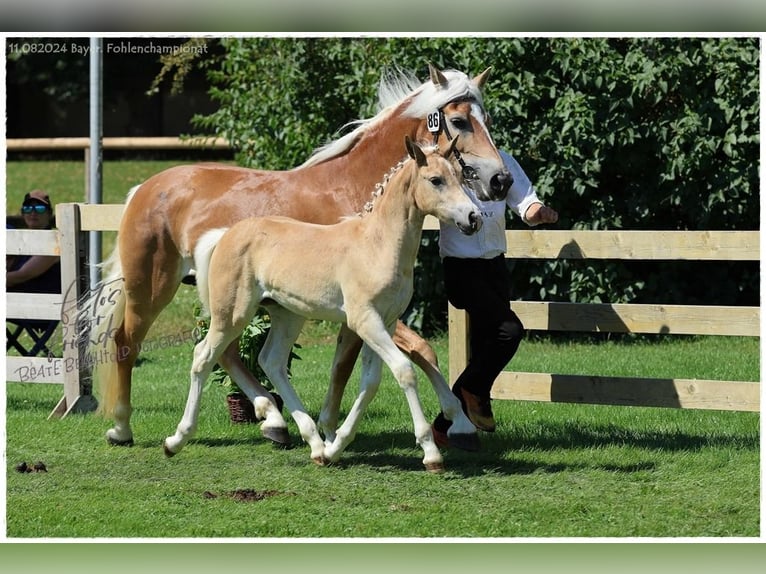
[[[446,146],[459,136],[460,144],[452,156],[463,182],[483,201],[505,199],[513,179],[489,133],[481,97],[490,68],[470,80],[460,72],[429,68],[433,88],[424,90],[424,95],[430,95],[433,107],[426,114],[418,139],[430,137]]]

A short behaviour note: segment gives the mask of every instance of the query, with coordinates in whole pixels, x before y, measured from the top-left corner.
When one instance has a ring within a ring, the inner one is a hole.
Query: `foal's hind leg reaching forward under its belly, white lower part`
[[[303,402],[290,384],[287,374],[290,353],[306,320],[276,305],[269,306],[268,311],[271,317],[271,328],[258,355],[258,363],[269,380],[274,383],[277,392],[282,395],[285,406],[298,425],[301,437],[311,448],[311,459],[317,464],[324,464],[324,441],[319,435],[314,420],[308,415],[306,407],[303,406]]]

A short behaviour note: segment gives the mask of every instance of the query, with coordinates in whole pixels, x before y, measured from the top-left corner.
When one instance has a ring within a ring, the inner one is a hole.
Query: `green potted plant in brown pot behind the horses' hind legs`
[[[199,304],[195,305],[194,307],[194,315],[197,321],[197,341],[201,341],[207,334],[209,324],[207,318],[201,316],[201,308]],[[250,371],[252,375],[258,379],[264,387],[269,389],[271,395],[274,397],[274,400],[277,403],[277,407],[281,411],[283,406],[282,397],[274,392],[274,387],[271,384],[271,381],[268,380],[266,374],[258,364],[258,354],[261,352],[261,348],[266,342],[266,337],[269,334],[270,328],[271,321],[268,313],[266,313],[266,311],[263,309],[259,309],[256,316],[253,317],[253,320],[245,328],[239,338],[239,358],[247,370]],[[300,345],[296,343],[295,348],[299,349]],[[290,355],[290,364],[292,364],[293,359],[300,359],[300,357],[295,352],[293,352]],[[245,393],[243,393],[242,390],[237,386],[237,383],[232,380],[232,378],[220,365],[217,364],[213,369],[213,372],[210,374],[208,384],[219,384],[227,390],[226,404],[228,406],[229,417],[231,418],[232,422],[258,422],[258,419],[255,416],[253,403],[250,401],[250,399],[247,398]]]

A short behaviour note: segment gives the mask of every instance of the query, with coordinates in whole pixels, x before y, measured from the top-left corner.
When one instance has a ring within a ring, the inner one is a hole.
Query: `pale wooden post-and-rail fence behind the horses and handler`
[[[73,319],[89,300],[85,251],[89,231],[115,231],[123,205],[59,204],[59,231],[8,230],[9,254],[60,255],[63,295],[7,294],[7,317]],[[434,229],[429,218],[426,229]],[[507,231],[509,258],[541,259],[760,259],[759,232],[729,231]],[[79,302],[79,303],[77,303]],[[527,329],[614,333],[760,336],[759,307],[618,305],[514,301]],[[466,314],[449,309],[449,372],[455,379],[467,364]],[[6,380],[63,383],[64,397],[52,416],[92,410],[90,359],[84,347],[66,344],[60,359],[7,357]],[[31,374],[30,374],[31,373]],[[758,382],[644,379],[504,371],[493,398],[531,401],[759,411]]]

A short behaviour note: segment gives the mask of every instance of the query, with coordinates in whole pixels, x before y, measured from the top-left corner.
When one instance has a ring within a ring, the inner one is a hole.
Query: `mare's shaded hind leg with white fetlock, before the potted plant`
[[[289,445],[290,434],[287,432],[287,423],[282,418],[274,397],[242,363],[239,358],[239,342],[236,339],[226,348],[219,362],[247,398],[253,402],[256,416],[259,419],[265,419],[261,425],[263,436],[277,444]]]

